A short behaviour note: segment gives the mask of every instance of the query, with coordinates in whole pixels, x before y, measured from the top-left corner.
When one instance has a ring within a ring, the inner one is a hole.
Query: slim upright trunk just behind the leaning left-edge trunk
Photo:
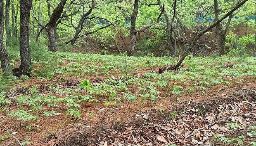
[[[10,0],[5,0],[5,31],[6,31],[6,46],[10,46],[11,43],[11,30],[9,28],[10,21]]]

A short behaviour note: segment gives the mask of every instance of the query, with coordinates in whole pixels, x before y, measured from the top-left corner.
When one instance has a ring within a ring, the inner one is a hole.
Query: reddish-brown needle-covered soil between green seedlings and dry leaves
[[[102,77],[104,78],[104,77]],[[95,80],[95,77],[88,77],[90,80]],[[79,85],[79,79],[67,78],[62,80],[62,88],[74,88]],[[52,81],[55,82],[55,81]],[[26,86],[14,90],[15,92],[9,94],[12,97],[14,94],[25,94],[28,92],[28,87],[32,85],[38,85],[39,92],[47,94],[46,84],[49,82],[40,82],[36,79],[31,79],[26,83]],[[26,123],[22,125],[18,121],[11,118],[4,118],[0,121],[0,135],[5,135],[8,131],[18,132],[15,137],[20,141],[30,141],[35,146],[45,145],[95,145],[99,143],[99,138],[107,133],[114,134],[112,138],[121,139],[120,135],[116,135],[116,132],[126,132],[127,128],[132,126],[135,129],[136,135],[150,137],[149,125],[157,125],[168,121],[168,117],[171,113],[183,112],[184,109],[201,109],[202,113],[218,112],[217,107],[222,103],[232,103],[236,101],[233,98],[235,92],[241,89],[253,88],[256,89],[255,79],[246,79],[243,83],[231,84],[228,87],[212,87],[205,91],[196,91],[191,94],[184,93],[179,99],[175,97],[162,97],[156,103],[145,102],[140,106],[139,102],[132,102],[130,104],[131,112],[128,109],[128,103],[117,104],[111,108],[109,112],[108,108],[104,106],[104,102],[100,103],[85,103],[81,105],[81,114],[83,115],[79,120],[72,117],[65,116],[66,110],[59,111],[61,115],[54,116],[50,119],[40,117],[40,122],[30,123],[32,129],[29,131],[26,128]],[[168,95],[168,93],[162,93]],[[56,94],[58,97],[58,95]],[[104,100],[104,99],[101,99]],[[15,105],[9,105],[9,111],[16,110]],[[25,105],[24,110],[29,110]],[[164,109],[165,114],[159,112],[159,108]],[[101,110],[103,109],[103,110]],[[45,109],[51,110],[51,109]],[[9,113],[4,112],[3,116]],[[145,119],[140,115],[148,115],[148,119]],[[139,116],[136,116],[139,115]],[[36,115],[40,116],[40,115]],[[152,131],[151,131],[152,132]],[[154,135],[154,133],[152,133]],[[120,136],[120,137],[119,137]],[[104,141],[115,141],[111,137],[104,137]],[[102,140],[102,139],[101,139]],[[129,141],[129,139],[126,139]],[[120,142],[120,141],[119,141]],[[185,143],[184,143],[185,144]],[[189,144],[189,143],[188,143]],[[0,145],[3,146],[15,146],[18,145],[17,141],[13,137],[8,137],[5,141],[2,141]]]

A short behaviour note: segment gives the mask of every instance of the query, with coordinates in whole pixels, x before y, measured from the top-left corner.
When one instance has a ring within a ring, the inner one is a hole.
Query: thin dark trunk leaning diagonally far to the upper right
[[[245,2],[247,2],[248,0],[242,0],[240,1],[237,5],[235,5],[235,7],[233,7],[228,13],[226,13],[223,17],[221,17],[220,19],[218,19],[217,21],[215,21],[213,24],[211,24],[209,27],[206,27],[206,29],[202,30],[201,32],[199,32],[197,34],[197,36],[194,37],[194,39],[192,40],[192,43],[190,45],[190,47],[183,53],[182,57],[178,58],[178,61],[174,64],[174,66],[171,68],[172,70],[177,70],[178,67],[180,66],[180,64],[183,62],[183,60],[187,57],[187,55],[190,53],[190,51],[192,50],[192,48],[194,47],[194,45],[197,43],[197,41],[199,40],[199,38],[205,34],[206,32],[208,32],[209,30],[211,30],[213,27],[216,27],[216,25],[218,25],[221,21],[223,21],[225,18],[227,18],[228,16],[232,15],[232,13],[237,10],[239,7],[241,7]]]

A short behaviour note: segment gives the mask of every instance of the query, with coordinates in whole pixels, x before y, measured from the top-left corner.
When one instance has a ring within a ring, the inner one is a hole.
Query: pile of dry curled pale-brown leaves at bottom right
[[[150,122],[139,128],[127,127],[125,132],[110,132],[102,137],[109,145],[209,145],[214,136],[228,136],[233,130],[225,123],[233,122],[248,128],[255,125],[256,102],[245,100],[218,105],[218,111],[200,113],[198,109],[189,108],[175,116],[174,119],[163,120],[162,123]],[[187,104],[190,104],[188,102]],[[200,103],[199,103],[200,104]],[[206,107],[207,108],[207,107]],[[103,145],[102,145],[103,146]]]

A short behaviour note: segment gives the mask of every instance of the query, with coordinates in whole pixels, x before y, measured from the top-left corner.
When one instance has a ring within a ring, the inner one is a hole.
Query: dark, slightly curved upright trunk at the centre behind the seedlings
[[[136,45],[136,18],[139,9],[139,0],[134,1],[133,14],[131,14],[131,23],[130,23],[130,51],[128,56],[133,56]]]

